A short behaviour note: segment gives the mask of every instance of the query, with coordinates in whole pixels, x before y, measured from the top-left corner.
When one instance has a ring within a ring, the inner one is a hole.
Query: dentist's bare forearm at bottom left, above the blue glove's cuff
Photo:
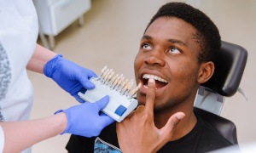
[[[4,133],[3,152],[20,152],[32,144],[62,133],[67,126],[67,116],[58,113],[32,121],[0,122],[0,125]]]

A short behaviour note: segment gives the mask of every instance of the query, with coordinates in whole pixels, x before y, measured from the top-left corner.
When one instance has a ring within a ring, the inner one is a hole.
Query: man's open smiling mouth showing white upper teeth
[[[148,88],[148,79],[149,78],[153,78],[155,80],[155,88],[156,89],[163,88],[168,84],[168,82],[161,77],[150,75],[150,74],[144,74],[143,79],[142,79],[144,88]]]

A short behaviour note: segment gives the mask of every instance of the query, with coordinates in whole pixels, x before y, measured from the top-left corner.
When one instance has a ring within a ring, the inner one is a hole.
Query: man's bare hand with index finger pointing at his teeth
[[[148,80],[146,105],[139,105],[122,122],[117,123],[119,146],[122,152],[156,152],[172,139],[178,122],[185,116],[183,112],[172,115],[160,129],[154,126],[155,82]]]

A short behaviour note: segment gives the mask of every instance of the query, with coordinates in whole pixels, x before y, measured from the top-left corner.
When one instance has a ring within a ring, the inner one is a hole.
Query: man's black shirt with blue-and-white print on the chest
[[[232,143],[229,140],[224,139],[214,127],[197,116],[195,127],[187,135],[181,139],[168,142],[158,152],[203,153],[230,145]],[[98,137],[85,138],[72,135],[66,149],[70,153],[121,152],[117,139],[116,123],[113,122],[105,127]]]

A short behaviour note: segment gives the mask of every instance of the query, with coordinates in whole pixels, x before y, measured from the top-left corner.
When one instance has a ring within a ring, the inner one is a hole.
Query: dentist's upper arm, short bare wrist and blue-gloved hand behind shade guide
[[[84,103],[84,100],[79,98],[79,90],[81,88],[95,88],[95,85],[89,81],[91,77],[96,77],[95,72],[77,65],[63,58],[61,54],[55,54],[38,44],[32,58],[26,65],[26,69],[52,78],[62,89],[81,103]]]

